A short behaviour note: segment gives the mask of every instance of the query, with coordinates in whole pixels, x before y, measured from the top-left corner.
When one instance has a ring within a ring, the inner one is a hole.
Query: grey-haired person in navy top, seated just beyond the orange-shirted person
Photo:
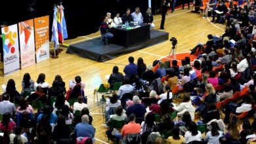
[[[146,113],[146,107],[140,104],[140,99],[138,96],[133,96],[133,103],[134,105],[127,109],[126,115],[131,115],[132,113],[135,114],[137,117],[136,122],[141,123]]]

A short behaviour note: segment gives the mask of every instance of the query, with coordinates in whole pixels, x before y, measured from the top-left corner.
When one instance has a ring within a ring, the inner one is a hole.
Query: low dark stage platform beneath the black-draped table
[[[98,62],[112,60],[121,54],[127,54],[147,46],[156,45],[169,39],[169,33],[150,29],[150,39],[132,46],[120,46],[115,44],[104,45],[101,37],[70,45],[66,53],[77,54],[83,58],[89,58]]]

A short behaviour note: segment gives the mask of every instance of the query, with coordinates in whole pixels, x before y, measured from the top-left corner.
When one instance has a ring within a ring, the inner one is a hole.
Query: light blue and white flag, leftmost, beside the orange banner
[[[54,48],[55,50],[58,48],[58,27],[57,27],[57,13],[58,13],[58,9],[57,7],[54,7],[54,12],[53,12],[53,35],[52,35],[52,39],[51,41],[54,42]]]

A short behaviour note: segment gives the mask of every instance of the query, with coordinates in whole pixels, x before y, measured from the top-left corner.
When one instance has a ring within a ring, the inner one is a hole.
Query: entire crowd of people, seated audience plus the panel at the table
[[[164,2],[169,7],[169,3]],[[130,56],[123,73],[119,72],[119,67],[113,67],[108,79],[109,88],[116,82],[122,82],[122,85],[118,92],[106,98],[104,126],[108,128],[109,138],[116,142],[132,139],[132,143],[243,144],[256,141],[253,118],[256,100],[255,4],[248,1],[239,3],[238,7],[233,5],[235,2],[211,0],[207,3],[203,16],[211,12],[213,22],[226,20],[226,28],[223,35],[209,34],[205,44],[192,48],[195,60],[187,56],[181,60],[181,65],[177,60],[156,60],[146,65],[142,58],[135,63]],[[229,3],[229,9],[226,3]],[[130,12],[127,9],[122,18],[116,14],[114,20],[108,12],[100,26],[102,33],[131,21],[146,22],[154,27],[150,9],[146,18],[139,8],[132,14]],[[108,84],[104,86],[108,87]],[[13,79],[2,88],[0,143],[95,141],[96,129],[81,77],[76,76],[75,81],[70,81],[66,90],[60,75],[56,75],[50,87],[49,82],[45,82],[45,74],[39,74],[37,81],[33,81],[26,73],[21,92],[16,90]],[[74,103],[72,99],[75,99]],[[32,106],[36,101],[41,101],[43,107],[35,113]],[[238,125],[239,118],[243,119],[242,128]],[[122,121],[123,126],[113,128],[112,123],[116,121]],[[205,137],[198,130],[200,125],[206,127]],[[172,136],[165,137],[164,132],[171,132]]]

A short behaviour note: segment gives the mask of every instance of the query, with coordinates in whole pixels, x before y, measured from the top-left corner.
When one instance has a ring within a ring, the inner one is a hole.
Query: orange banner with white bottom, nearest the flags
[[[47,60],[50,56],[49,48],[49,16],[34,18],[35,26],[35,55],[37,63]]]

